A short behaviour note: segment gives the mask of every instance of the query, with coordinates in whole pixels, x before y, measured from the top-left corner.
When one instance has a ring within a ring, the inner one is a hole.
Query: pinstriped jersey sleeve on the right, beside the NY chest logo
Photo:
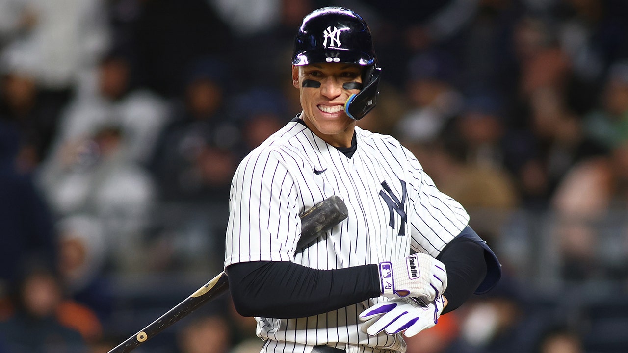
[[[408,215],[410,247],[436,257],[465,229],[469,215],[459,202],[440,192],[416,157],[408,149],[403,149],[411,186],[408,193],[411,202]]]

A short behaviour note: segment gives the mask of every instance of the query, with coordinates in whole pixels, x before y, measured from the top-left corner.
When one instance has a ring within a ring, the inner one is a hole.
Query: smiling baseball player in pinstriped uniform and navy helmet
[[[230,191],[225,271],[262,352],[404,352],[501,276],[468,214],[391,136],[355,122],[376,105],[369,27],[346,8],[308,14],[292,58],[303,111],[254,149]],[[349,216],[295,255],[299,215],[331,196]]]

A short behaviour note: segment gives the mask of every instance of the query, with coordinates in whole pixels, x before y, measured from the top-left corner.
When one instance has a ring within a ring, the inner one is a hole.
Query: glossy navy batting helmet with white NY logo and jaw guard
[[[361,119],[377,102],[379,73],[371,30],[362,16],[347,8],[317,9],[303,18],[295,38],[293,65],[355,63],[364,66],[362,89],[351,95],[345,112]]]

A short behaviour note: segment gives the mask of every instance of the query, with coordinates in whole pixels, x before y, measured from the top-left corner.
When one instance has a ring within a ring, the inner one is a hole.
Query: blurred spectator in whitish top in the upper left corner
[[[0,62],[33,79],[40,109],[57,114],[106,51],[104,8],[100,0],[0,0]]]

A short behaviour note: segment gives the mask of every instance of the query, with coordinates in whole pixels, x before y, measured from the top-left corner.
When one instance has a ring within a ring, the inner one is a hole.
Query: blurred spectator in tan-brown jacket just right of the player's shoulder
[[[435,153],[436,185],[468,210],[470,224],[495,241],[521,198],[504,168],[506,117],[499,95],[475,92],[439,137],[445,153]],[[440,184],[438,184],[440,183]]]

